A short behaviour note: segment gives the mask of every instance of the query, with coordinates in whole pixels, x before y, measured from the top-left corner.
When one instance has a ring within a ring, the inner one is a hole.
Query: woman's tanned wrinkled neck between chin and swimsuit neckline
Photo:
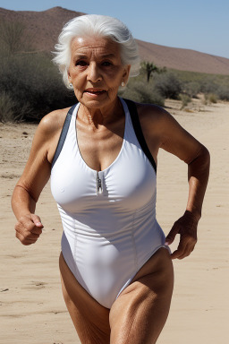
[[[81,121],[97,129],[100,125],[109,125],[120,116],[123,116],[123,105],[118,98],[101,108],[89,108],[81,104],[78,111]]]

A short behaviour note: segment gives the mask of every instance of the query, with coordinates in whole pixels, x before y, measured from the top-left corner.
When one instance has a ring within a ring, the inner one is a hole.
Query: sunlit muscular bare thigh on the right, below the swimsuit
[[[154,344],[169,312],[174,287],[170,254],[161,248],[136,274],[110,310],[111,344]]]

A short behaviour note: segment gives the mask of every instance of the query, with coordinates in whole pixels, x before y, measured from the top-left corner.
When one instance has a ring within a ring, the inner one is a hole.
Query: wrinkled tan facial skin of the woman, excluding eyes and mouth
[[[86,115],[90,114],[94,120],[94,116],[101,113],[105,120],[107,116],[109,119],[114,114],[110,103],[116,104],[117,91],[121,83],[128,79],[130,65],[122,64],[119,54],[120,47],[117,43],[105,38],[84,37],[80,39],[72,40],[72,57],[68,70],[69,82],[72,82],[76,98],[81,101],[82,105],[79,109],[79,116],[84,112]],[[83,59],[83,64],[86,65],[75,65],[74,56],[81,54],[82,51],[87,57]],[[115,56],[108,61],[101,59],[101,55],[107,55],[107,51],[108,55]],[[93,87],[106,90],[103,99],[99,100],[99,108],[96,100],[85,98],[84,90]],[[95,121],[96,118],[95,116]]]

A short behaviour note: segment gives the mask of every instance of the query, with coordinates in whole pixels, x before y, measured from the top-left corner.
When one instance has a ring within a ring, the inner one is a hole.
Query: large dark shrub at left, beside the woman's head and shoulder
[[[48,112],[76,102],[66,90],[62,78],[44,54],[13,54],[2,58],[0,89],[13,99],[13,116],[26,121],[38,121]]]

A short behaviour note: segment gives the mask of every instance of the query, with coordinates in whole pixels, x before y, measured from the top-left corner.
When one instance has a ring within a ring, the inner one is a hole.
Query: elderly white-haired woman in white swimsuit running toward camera
[[[122,22],[84,15],[68,22],[55,63],[79,103],[45,116],[13,192],[16,236],[38,240],[36,202],[51,177],[63,222],[64,300],[82,343],[155,343],[169,312],[174,271],[197,242],[208,150],[163,108],[117,96],[139,70]],[[156,219],[157,152],[188,164],[186,211],[168,236]],[[180,235],[173,254],[168,245]]]

